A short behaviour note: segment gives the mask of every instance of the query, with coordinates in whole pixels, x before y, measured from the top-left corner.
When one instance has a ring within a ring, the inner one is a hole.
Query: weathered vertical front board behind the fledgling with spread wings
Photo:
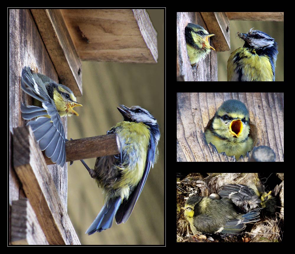
[[[19,179],[13,164],[13,129],[24,126],[27,121],[22,119],[20,103],[32,105],[32,98],[20,88],[22,68],[30,66],[35,71],[58,81],[55,67],[47,53],[43,40],[36,27],[35,20],[28,9],[9,10],[9,204],[12,200],[25,197],[19,185]],[[67,135],[67,119],[62,118]],[[63,168],[57,165],[48,166],[52,173],[63,204],[67,207],[67,164]]]

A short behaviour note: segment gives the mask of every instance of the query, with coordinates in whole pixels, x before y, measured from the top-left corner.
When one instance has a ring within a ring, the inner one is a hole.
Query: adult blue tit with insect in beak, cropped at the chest
[[[227,60],[227,81],[275,81],[278,45],[268,34],[251,28],[237,33],[245,41]]]

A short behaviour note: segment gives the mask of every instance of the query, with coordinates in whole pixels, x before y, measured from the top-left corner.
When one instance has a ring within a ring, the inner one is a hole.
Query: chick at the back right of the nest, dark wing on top
[[[278,193],[278,186],[274,189],[275,195]],[[230,198],[237,207],[240,207],[242,211],[248,212],[256,207],[265,208],[270,213],[276,211],[276,197],[273,197],[270,192],[265,191],[265,187],[262,184],[251,184],[246,186],[243,184],[225,184],[222,186],[218,194],[220,197]]]

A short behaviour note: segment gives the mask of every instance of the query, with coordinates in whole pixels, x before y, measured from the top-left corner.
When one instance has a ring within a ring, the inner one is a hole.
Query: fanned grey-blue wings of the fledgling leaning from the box
[[[53,82],[44,75],[32,73],[29,67],[23,68],[21,88],[28,95],[41,101],[43,108],[21,104],[22,117],[26,120],[38,117],[35,121],[28,122],[27,125],[31,126],[40,149],[45,150],[45,155],[54,163],[64,166],[66,159],[65,131],[55,103],[47,93],[45,81]],[[50,118],[44,117],[44,115],[49,115]]]

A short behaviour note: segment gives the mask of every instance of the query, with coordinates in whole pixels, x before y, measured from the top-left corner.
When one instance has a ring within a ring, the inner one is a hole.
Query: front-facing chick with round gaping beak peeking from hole
[[[245,104],[227,100],[217,109],[209,128],[205,131],[207,143],[216,146],[218,153],[227,156],[245,156],[253,148],[250,136],[250,117]]]

